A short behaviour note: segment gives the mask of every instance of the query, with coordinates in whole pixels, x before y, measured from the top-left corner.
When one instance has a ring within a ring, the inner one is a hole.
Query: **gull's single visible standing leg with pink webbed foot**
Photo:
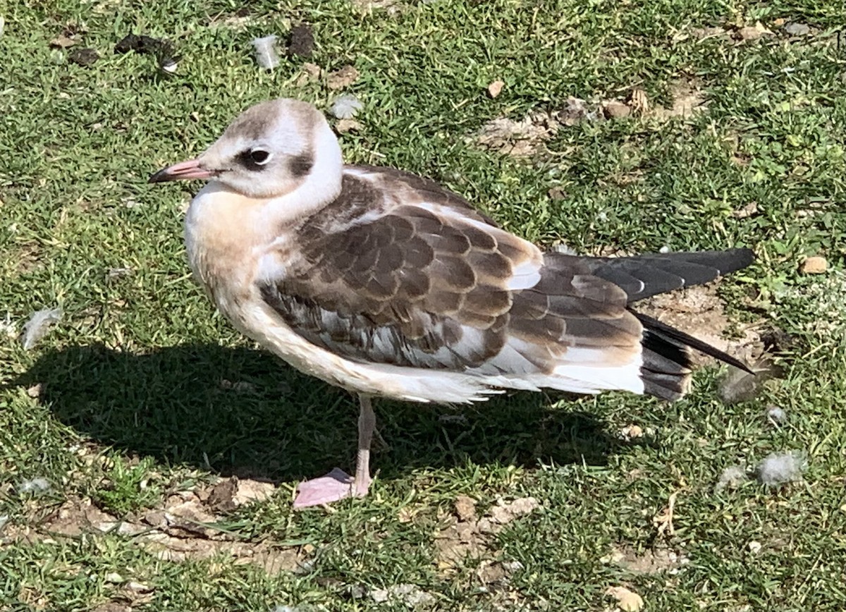
[[[370,488],[370,447],[376,415],[369,395],[359,395],[359,452],[355,463],[355,477],[336,467],[326,476],[300,482],[294,508],[332,504],[350,496],[364,497]]]

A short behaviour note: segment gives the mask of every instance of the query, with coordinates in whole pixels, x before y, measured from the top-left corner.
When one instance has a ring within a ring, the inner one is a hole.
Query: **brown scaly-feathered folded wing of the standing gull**
[[[534,245],[460,202],[348,174],[261,295],[297,334],[354,361],[549,373],[570,356],[613,366],[640,350],[622,289],[577,259],[544,267]]]

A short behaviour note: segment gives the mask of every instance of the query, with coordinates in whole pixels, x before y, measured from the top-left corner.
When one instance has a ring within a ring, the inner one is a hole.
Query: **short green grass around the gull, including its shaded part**
[[[332,2],[124,0],[0,3],[0,609],[406,609],[356,597],[414,584],[431,609],[613,609],[623,585],[650,610],[838,610],[846,600],[846,55],[841,3],[402,3],[362,12]],[[783,20],[783,21],[779,21]],[[578,251],[750,245],[758,260],[722,284],[730,316],[793,341],[784,378],[739,405],[705,368],[673,405],[624,394],[516,394],[456,411],[381,401],[388,447],[374,494],[295,513],[301,477],[349,466],[355,405],[281,367],[213,312],[190,281],[182,210],[196,185],[146,185],[201,152],[241,109],[272,96],[326,108],[335,92],[297,85],[302,58],[257,69],[249,41],[312,25],[311,61],[353,64],[363,128],[347,159],[426,174],[541,245]],[[761,21],[773,36],[700,38]],[[779,26],[805,23],[791,38]],[[100,60],[50,47],[63,30]],[[164,36],[176,74],[115,55],[130,31]],[[492,80],[506,85],[496,99]],[[686,118],[633,117],[558,131],[520,159],[472,142],[486,121],[560,108],[568,96],[625,99],[637,87]],[[558,189],[563,199],[548,192]],[[755,202],[751,216],[734,214]],[[804,256],[832,269],[802,275]],[[115,273],[129,268],[129,273]],[[110,273],[110,270],[112,273]],[[15,338],[31,312],[62,306],[36,350]],[[224,381],[228,381],[225,383]],[[40,383],[40,389],[33,389]],[[238,385],[236,383],[249,383]],[[30,389],[28,392],[27,389]],[[772,427],[766,405],[788,425]],[[616,432],[651,432],[624,444]],[[714,492],[723,468],[772,451],[808,455],[805,482]],[[225,556],[164,560],[117,531],[45,533],[70,502],[118,518],[168,507],[217,476],[268,478],[271,499],[224,513],[239,541],[295,549],[307,571],[267,573]],[[41,494],[21,482],[47,478]],[[677,493],[674,532],[653,517]],[[445,569],[438,532],[459,494],[541,509],[484,539],[481,560]],[[753,543],[750,547],[750,543]],[[760,549],[754,543],[759,543]],[[634,573],[613,549],[671,549],[689,562]],[[757,551],[757,552],[755,552]],[[518,569],[485,578],[492,561]],[[519,569],[521,568],[521,569]],[[143,584],[135,589],[130,582]]]

